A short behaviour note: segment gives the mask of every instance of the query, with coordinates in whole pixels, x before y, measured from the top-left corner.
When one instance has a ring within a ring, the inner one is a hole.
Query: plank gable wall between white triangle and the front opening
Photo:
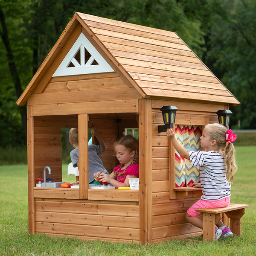
[[[66,115],[82,113],[137,112],[141,95],[115,72],[54,77],[43,93],[29,98],[33,114]]]

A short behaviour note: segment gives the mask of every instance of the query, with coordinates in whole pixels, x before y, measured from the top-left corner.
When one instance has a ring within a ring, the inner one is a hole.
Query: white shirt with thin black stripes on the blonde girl
[[[226,178],[223,154],[217,151],[189,151],[192,166],[200,166],[203,195],[201,199],[217,201],[231,195],[231,185]]]

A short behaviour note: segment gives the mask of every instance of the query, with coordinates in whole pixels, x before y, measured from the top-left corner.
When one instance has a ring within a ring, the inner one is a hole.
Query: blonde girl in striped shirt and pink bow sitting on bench
[[[201,200],[192,205],[186,212],[186,220],[196,227],[203,229],[199,208],[225,207],[230,203],[230,189],[236,172],[235,148],[233,142],[236,134],[221,124],[206,125],[200,137],[201,147],[207,151],[186,151],[177,141],[172,129],[168,129],[167,136],[171,140],[181,157],[190,160],[192,166],[200,166],[200,183],[193,183],[194,187],[201,187]],[[229,227],[219,221],[215,227],[215,240],[220,237],[232,237]]]

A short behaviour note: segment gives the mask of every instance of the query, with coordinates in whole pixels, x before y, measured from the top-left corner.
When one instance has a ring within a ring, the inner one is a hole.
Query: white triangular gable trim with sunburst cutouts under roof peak
[[[81,33],[53,76],[114,72],[86,36]]]

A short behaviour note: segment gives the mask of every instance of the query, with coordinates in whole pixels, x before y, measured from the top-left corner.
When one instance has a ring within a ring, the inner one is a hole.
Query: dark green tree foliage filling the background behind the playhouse
[[[26,144],[15,102],[75,12],[177,32],[241,102],[231,127],[256,128],[255,0],[0,0],[0,146]]]

